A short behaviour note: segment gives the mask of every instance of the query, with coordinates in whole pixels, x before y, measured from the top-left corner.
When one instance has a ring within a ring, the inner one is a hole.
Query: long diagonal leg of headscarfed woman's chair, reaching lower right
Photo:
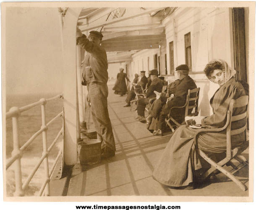
[[[234,181],[235,184],[237,184],[238,187],[240,187],[240,189],[242,189],[243,191],[246,191],[246,186],[241,181],[239,181],[234,175],[230,174],[229,171],[227,171],[226,169],[222,168],[222,166],[219,166],[217,163],[215,163],[211,158],[206,156],[206,154],[202,150],[199,150],[199,155],[202,158],[204,158],[204,160],[206,160],[208,163],[210,163],[212,166],[214,166],[216,169],[218,169],[223,174],[225,174],[232,181]]]

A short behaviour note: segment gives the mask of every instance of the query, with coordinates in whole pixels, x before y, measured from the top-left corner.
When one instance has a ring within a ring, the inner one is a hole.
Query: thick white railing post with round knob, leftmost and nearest
[[[14,161],[15,169],[15,196],[24,196],[24,191],[22,189],[22,174],[21,174],[21,156],[22,152],[20,150],[19,140],[18,140],[18,116],[20,115],[20,109],[18,107],[10,108],[10,111],[15,111],[15,116],[12,117],[13,122],[13,152],[12,155],[19,154],[16,161]]]

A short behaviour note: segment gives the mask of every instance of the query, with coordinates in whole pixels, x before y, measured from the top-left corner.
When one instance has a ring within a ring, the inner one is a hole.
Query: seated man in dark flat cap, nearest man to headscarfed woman
[[[160,96],[158,99],[159,103],[155,103],[156,107],[152,109],[152,117],[157,118],[157,130],[154,130],[154,135],[162,135],[162,130],[165,127],[165,117],[169,114],[170,109],[173,106],[183,106],[186,102],[188,90],[196,88],[194,80],[188,76],[189,68],[187,65],[179,65],[176,67],[176,71],[179,80],[175,80],[174,83],[171,83],[172,86],[169,87],[169,93],[173,95],[171,95],[170,98]],[[177,119],[177,117],[183,116],[184,114],[185,109],[177,110],[176,113],[172,113],[172,117]]]

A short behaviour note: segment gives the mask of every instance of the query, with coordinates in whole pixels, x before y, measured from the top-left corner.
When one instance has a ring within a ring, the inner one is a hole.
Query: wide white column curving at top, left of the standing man
[[[76,97],[76,25],[81,8],[68,8],[63,24],[64,69],[64,161],[76,164],[77,97]]]

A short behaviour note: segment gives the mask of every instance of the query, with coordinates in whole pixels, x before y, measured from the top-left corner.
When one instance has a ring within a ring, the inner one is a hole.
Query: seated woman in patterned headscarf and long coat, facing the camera
[[[213,113],[202,119],[202,126],[209,128],[220,128],[226,123],[226,114],[231,99],[238,99],[246,95],[246,92],[234,75],[235,70],[230,69],[223,60],[209,62],[204,72],[206,77],[214,83],[219,84],[219,89],[214,93],[210,104]],[[243,108],[242,108],[243,109]],[[246,108],[244,108],[246,109]],[[240,114],[245,110],[235,109],[234,114]],[[232,127],[243,127],[246,120],[238,120],[232,123]],[[194,189],[200,173],[209,167],[204,159],[199,159],[196,153],[194,138],[197,129],[182,125],[175,130],[169,143],[162,153],[153,176],[154,179],[170,187],[181,189]],[[197,137],[199,149],[207,154],[223,153],[226,151],[225,130],[221,132],[203,132]],[[244,135],[232,136],[232,146],[235,147],[244,141]],[[199,170],[200,169],[200,170]]]

